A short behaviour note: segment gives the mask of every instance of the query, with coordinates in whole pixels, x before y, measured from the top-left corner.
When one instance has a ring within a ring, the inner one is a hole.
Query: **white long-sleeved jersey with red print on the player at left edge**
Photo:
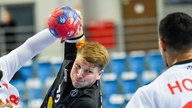
[[[51,35],[48,29],[45,29],[0,58],[0,69],[3,71],[3,77],[0,81],[0,106],[6,102],[6,99],[9,99],[14,105],[18,105],[19,93],[9,81],[28,60],[55,41],[56,38]]]

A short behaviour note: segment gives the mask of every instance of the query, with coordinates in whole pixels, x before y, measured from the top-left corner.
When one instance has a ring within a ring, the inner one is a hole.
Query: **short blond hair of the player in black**
[[[87,42],[77,50],[77,55],[81,55],[93,67],[103,70],[109,63],[109,53],[107,49],[97,42]]]

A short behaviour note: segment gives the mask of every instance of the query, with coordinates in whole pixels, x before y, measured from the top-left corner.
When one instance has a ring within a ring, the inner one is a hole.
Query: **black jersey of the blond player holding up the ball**
[[[82,38],[82,37],[80,37]],[[97,81],[90,88],[74,88],[70,72],[76,58],[77,43],[65,42],[65,59],[50,87],[41,108],[100,108],[100,85]]]

